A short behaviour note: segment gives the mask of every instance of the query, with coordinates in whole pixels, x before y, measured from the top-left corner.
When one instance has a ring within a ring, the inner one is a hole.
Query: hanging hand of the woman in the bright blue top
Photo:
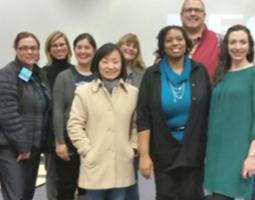
[[[153,171],[153,163],[151,157],[147,155],[140,155],[139,170],[144,178],[150,178]]]

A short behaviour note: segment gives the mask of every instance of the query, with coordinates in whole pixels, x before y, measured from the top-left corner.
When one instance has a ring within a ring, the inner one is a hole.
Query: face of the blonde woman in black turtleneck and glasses
[[[51,43],[50,55],[57,60],[64,60],[67,58],[68,47],[64,37],[60,37]]]

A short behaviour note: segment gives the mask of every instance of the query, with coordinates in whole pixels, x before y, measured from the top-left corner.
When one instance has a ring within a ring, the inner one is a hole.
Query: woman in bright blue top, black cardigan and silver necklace
[[[209,111],[206,69],[187,55],[186,32],[158,34],[160,62],[143,76],[137,104],[140,172],[154,171],[157,200],[200,200]]]

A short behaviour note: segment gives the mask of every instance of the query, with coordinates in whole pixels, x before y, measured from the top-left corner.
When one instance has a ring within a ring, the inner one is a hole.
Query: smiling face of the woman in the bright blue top
[[[170,59],[181,59],[186,51],[186,41],[178,29],[170,29],[164,40],[164,52]]]

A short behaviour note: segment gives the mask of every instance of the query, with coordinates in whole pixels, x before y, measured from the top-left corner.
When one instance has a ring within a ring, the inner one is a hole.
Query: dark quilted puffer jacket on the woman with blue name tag
[[[41,147],[50,109],[49,85],[45,72],[34,66],[28,82],[18,78],[22,69],[17,60],[0,70],[0,147],[18,153]],[[42,112],[42,90],[47,110]]]

